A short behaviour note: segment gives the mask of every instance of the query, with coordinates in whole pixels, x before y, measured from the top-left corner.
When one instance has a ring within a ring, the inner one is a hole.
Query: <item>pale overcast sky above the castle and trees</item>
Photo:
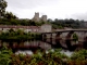
[[[35,12],[48,18],[74,18],[87,21],[87,0],[5,0],[7,11],[18,18],[33,18]]]

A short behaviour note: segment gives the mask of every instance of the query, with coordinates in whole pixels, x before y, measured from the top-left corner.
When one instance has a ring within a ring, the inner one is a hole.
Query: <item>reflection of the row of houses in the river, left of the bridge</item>
[[[45,50],[49,50],[51,49],[51,44],[47,43],[47,42],[42,42],[40,40],[33,40],[33,41],[1,41],[0,42],[0,48],[1,47],[8,47],[11,49],[16,49],[16,50],[29,50],[29,49],[45,49]]]

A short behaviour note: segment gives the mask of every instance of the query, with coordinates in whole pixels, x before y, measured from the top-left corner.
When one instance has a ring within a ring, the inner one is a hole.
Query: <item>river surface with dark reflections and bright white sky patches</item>
[[[52,40],[52,41],[50,41],[50,40]],[[70,41],[70,43],[71,43],[71,41]],[[26,40],[26,41],[0,40],[0,48],[2,48],[3,46],[11,48],[14,53],[16,52],[16,54],[17,53],[23,53],[23,54],[30,53],[32,54],[36,50],[39,50],[39,49],[41,49],[42,51],[45,50],[48,53],[47,50],[49,50],[49,49],[62,48],[63,50],[61,52],[66,53],[67,55],[71,55],[72,54],[71,49],[73,50],[74,47],[70,43],[65,43],[64,40],[59,41],[58,39],[50,39],[50,38],[45,41],[41,41],[41,40]],[[69,48],[66,48],[66,47],[69,47]],[[79,46],[79,48],[80,47],[82,46]]]

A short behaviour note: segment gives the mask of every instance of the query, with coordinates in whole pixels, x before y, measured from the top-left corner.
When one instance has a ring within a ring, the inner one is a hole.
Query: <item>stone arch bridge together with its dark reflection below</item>
[[[78,44],[73,41],[73,34],[78,37]],[[42,32],[42,41],[51,43],[52,47],[76,49],[77,46],[87,42],[87,29],[58,30],[53,32]],[[54,42],[55,41],[55,42]],[[72,46],[74,44],[74,46]]]

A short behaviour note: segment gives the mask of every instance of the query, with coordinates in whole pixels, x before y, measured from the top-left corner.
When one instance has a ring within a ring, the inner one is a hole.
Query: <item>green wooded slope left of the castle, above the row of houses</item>
[[[34,22],[32,20],[17,20],[17,18],[0,18],[0,25],[23,25],[23,26],[41,26],[45,22]]]

